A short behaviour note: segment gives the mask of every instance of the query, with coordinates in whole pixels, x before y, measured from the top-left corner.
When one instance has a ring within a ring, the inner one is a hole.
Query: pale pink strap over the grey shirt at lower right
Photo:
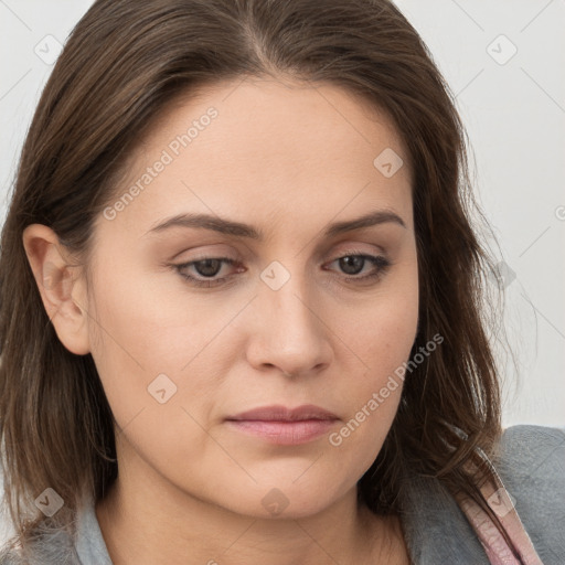
[[[516,547],[520,556],[516,557],[502,537],[494,522],[472,499],[456,497],[461,510],[467,515],[481,541],[491,565],[543,565],[527,532],[518,515],[514,502],[492,462],[482,449],[477,449],[480,457],[487,462],[491,471],[491,483],[481,488],[482,495],[489,507],[497,513],[502,525]]]

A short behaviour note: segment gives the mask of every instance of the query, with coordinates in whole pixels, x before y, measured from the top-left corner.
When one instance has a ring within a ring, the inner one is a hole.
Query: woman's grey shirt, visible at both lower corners
[[[493,463],[515,501],[544,565],[565,565],[565,431],[512,426]],[[489,565],[475,530],[437,479],[411,476],[402,516],[414,565]],[[113,565],[92,501],[77,515],[74,539],[50,534],[26,565]],[[21,565],[18,552],[0,553],[0,565]]]

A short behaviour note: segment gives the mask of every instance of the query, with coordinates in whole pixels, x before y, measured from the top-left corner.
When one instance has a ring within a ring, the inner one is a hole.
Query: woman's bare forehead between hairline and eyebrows
[[[396,129],[332,84],[239,78],[199,88],[159,115],[131,157],[117,194],[138,186],[120,212],[134,230],[185,210],[329,220],[373,206],[411,222],[408,154]],[[383,161],[397,168],[393,175]]]

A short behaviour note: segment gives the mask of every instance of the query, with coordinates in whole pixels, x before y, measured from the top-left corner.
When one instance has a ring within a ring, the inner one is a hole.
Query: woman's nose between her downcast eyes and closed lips
[[[258,371],[276,369],[296,377],[331,364],[335,335],[303,277],[291,276],[278,290],[259,285],[252,317],[247,361]]]

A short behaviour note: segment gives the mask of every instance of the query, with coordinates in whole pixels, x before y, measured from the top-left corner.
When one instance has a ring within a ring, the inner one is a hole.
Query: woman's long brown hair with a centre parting
[[[82,493],[99,500],[117,476],[114,420],[90,354],[58,341],[22,245],[50,226],[88,266],[93,223],[148,125],[178,96],[244,76],[329,82],[393,119],[413,169],[419,327],[412,355],[438,350],[406,377],[385,444],[359,482],[377,513],[401,512],[404,470],[471,495],[466,469],[501,435],[497,366],[484,312],[493,260],[471,214],[467,136],[415,29],[386,0],[98,0],[68,38],[23,147],[0,256],[0,437],[6,500],[23,540],[46,519],[47,487],[72,521]],[[375,156],[376,157],[376,156]],[[494,319],[494,317],[493,317]],[[458,429],[467,439],[462,439]]]

